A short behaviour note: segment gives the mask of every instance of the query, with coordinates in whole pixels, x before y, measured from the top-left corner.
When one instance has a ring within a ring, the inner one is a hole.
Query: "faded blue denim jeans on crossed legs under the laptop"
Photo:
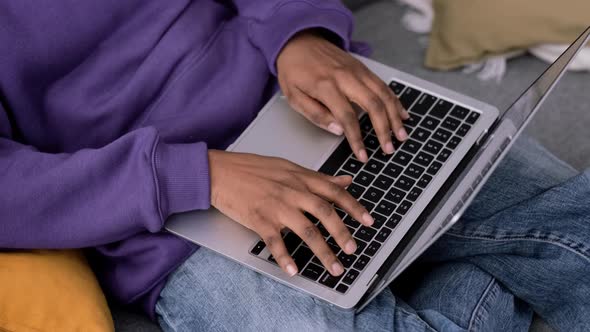
[[[201,248],[156,305],[164,331],[590,330],[590,170],[522,138],[462,221],[362,312]]]

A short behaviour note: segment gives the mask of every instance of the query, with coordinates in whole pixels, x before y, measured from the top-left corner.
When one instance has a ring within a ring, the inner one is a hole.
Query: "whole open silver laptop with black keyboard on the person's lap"
[[[334,306],[360,311],[459,220],[589,37],[590,28],[503,114],[359,56],[411,115],[405,122],[409,139],[386,155],[367,115],[360,114],[367,164],[355,159],[343,137],[317,128],[277,93],[227,150],[281,157],[329,175],[353,177],[348,192],[375,219],[371,227],[362,226],[336,208],[357,242],[353,255],[346,255],[310,216],[342,262],[341,276],[330,275],[309,247],[286,231],[283,239],[299,270],[289,277],[256,233],[214,208],[173,215],[165,228]]]

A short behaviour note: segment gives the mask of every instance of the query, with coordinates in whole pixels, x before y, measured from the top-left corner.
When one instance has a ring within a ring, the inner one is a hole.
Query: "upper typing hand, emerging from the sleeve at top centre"
[[[402,119],[409,114],[387,85],[365,65],[336,45],[307,30],[293,37],[277,58],[281,90],[289,104],[333,134],[346,135],[356,157],[368,156],[351,102],[369,114],[383,152],[394,147],[391,131],[407,139]]]

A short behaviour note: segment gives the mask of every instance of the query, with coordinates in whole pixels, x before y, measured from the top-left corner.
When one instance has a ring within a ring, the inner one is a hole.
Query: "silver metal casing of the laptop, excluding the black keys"
[[[166,222],[165,228],[171,233],[335,306],[361,310],[459,220],[515,138],[559,81],[571,60],[586,44],[589,34],[590,28],[502,117],[494,106],[370,59],[358,57],[386,83],[401,83],[406,89],[417,89],[451,102],[456,105],[454,107],[479,113],[479,117],[471,124],[471,129],[438,169],[436,175],[432,176],[422,194],[413,202],[387,239],[381,243],[376,254],[360,271],[354,282],[343,287],[346,288],[345,292],[337,291],[335,286],[328,287],[320,283],[321,277],[314,281],[302,276],[304,267],[301,266],[300,274],[289,277],[279,266],[269,261],[270,252],[266,248],[257,255],[251,253],[260,238],[214,208],[174,215]],[[412,107],[409,110],[412,111]],[[462,124],[466,123],[465,119],[461,121]],[[410,136],[412,137],[412,134]],[[227,150],[281,157],[301,166],[319,170],[343,139],[309,123],[277,94]],[[404,166],[404,170],[407,170],[407,167]],[[382,172],[379,174],[383,174]],[[345,274],[353,267],[346,269]],[[343,282],[340,280],[338,285]]]

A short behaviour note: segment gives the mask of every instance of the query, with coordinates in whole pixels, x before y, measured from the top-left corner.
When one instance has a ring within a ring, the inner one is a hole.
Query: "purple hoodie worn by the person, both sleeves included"
[[[207,149],[276,87],[275,60],[333,0],[0,2],[0,248],[88,248],[104,290],[154,318],[196,246],[163,232],[210,206]]]

